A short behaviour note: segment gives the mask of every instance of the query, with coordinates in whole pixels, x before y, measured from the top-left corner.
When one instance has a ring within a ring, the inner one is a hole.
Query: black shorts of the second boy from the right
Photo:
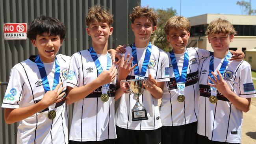
[[[197,122],[161,127],[161,144],[197,144]]]

